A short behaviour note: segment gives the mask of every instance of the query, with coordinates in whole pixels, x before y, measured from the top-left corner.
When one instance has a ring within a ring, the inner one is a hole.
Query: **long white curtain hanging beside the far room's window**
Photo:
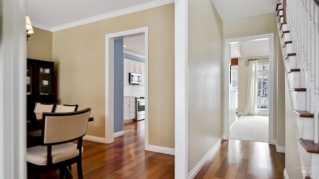
[[[245,115],[257,115],[257,61],[249,61],[249,76],[248,76],[248,90],[247,101],[245,107]]]

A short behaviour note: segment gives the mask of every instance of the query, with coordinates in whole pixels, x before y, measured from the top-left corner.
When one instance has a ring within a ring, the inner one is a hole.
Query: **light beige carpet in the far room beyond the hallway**
[[[268,116],[240,116],[229,138],[268,143]]]

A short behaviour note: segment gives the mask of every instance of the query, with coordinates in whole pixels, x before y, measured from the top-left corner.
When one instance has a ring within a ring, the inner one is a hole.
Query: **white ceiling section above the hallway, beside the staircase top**
[[[274,13],[279,0],[211,0],[211,2],[225,22]]]

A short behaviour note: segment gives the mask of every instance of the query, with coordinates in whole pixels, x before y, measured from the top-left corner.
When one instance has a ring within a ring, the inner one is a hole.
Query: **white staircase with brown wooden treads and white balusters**
[[[303,178],[319,179],[319,0],[280,0],[276,20]],[[309,171],[311,170],[311,171]]]

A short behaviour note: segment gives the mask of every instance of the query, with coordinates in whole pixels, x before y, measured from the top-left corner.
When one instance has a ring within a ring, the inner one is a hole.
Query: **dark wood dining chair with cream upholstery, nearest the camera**
[[[59,169],[59,177],[63,179],[63,171],[68,165],[77,163],[78,179],[82,174],[82,139],[86,133],[91,108],[66,113],[42,114],[42,144],[27,148],[26,161],[36,169],[36,178],[40,172],[46,171],[47,178],[52,170]],[[72,143],[77,141],[77,144]]]

